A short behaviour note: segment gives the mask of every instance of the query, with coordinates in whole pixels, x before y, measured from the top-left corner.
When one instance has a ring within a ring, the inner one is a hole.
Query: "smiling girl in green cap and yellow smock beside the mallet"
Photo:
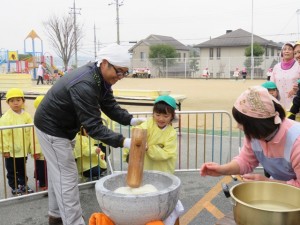
[[[174,173],[177,159],[177,133],[172,127],[176,101],[169,95],[155,99],[153,116],[136,126],[147,130],[147,149],[144,170]],[[128,159],[129,150],[123,150],[123,160]]]

